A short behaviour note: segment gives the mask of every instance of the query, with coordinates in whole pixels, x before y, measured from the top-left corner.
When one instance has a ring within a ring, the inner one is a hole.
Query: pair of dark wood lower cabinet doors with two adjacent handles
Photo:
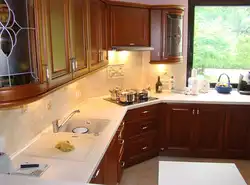
[[[222,155],[225,106],[170,104],[167,107],[169,153],[199,157]]]

